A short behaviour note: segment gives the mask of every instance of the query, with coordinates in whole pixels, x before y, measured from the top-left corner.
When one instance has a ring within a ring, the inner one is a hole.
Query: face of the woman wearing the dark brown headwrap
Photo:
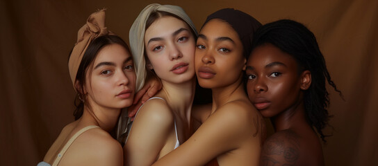
[[[202,28],[195,50],[195,72],[199,84],[215,89],[237,82],[245,68],[243,44],[225,21],[212,19]]]

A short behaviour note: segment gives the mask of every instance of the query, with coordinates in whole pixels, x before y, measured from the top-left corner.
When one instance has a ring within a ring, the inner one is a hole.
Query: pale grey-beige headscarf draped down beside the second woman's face
[[[171,6],[171,5],[160,5],[158,3],[150,4],[146,6],[142,12],[140,12],[139,16],[135,19],[133,26],[130,28],[129,32],[129,39],[130,39],[130,47],[131,53],[133,54],[133,59],[135,61],[135,69],[136,69],[136,91],[142,89],[145,85],[145,79],[147,77],[147,69],[146,69],[146,61],[145,61],[145,29],[146,29],[146,21],[149,19],[149,16],[156,12],[156,11],[163,11],[169,12],[173,15],[176,15],[183,19],[192,28],[195,36],[197,36],[197,30],[195,29],[195,24],[193,24],[192,20],[186,15],[186,12],[179,6]]]

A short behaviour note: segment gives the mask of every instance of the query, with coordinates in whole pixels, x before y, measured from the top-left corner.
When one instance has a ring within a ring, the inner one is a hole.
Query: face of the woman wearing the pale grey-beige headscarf
[[[195,37],[188,25],[175,17],[157,19],[145,33],[149,63],[163,82],[188,82],[195,75]]]

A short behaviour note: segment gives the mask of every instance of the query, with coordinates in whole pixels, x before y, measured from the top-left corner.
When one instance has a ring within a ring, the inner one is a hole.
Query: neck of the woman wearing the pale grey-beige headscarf
[[[190,120],[190,110],[195,93],[195,78],[181,84],[174,84],[162,80],[163,88],[157,96],[162,96],[167,100],[167,104],[172,111],[181,118]]]

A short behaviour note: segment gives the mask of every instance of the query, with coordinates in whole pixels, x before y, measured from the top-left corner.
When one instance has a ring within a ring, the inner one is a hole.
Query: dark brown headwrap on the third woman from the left
[[[222,19],[232,26],[239,35],[243,44],[243,55],[247,58],[251,53],[254,33],[261,26],[261,23],[247,13],[233,8],[217,10],[206,18],[202,27],[211,19]]]

